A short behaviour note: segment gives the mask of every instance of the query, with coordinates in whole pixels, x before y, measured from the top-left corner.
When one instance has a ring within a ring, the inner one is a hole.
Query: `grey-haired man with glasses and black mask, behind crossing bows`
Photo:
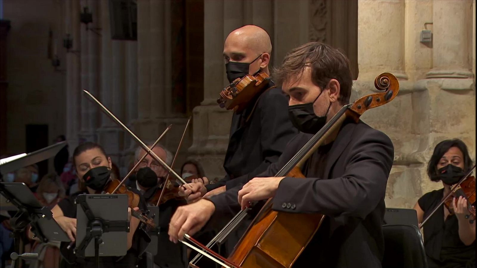
[[[147,147],[152,146],[152,142],[147,142]],[[152,151],[161,158],[167,165],[172,164],[173,155],[165,146],[157,144]],[[135,151],[135,164],[145,154],[142,147]],[[147,155],[135,170],[135,179],[132,178],[128,186],[137,188],[144,196],[148,206],[156,206],[151,202],[156,192],[161,191],[165,183],[167,171],[151,155]],[[186,201],[175,198],[166,201],[159,206],[159,227],[167,229],[171,216],[176,208],[187,204]],[[157,216],[157,215],[156,215]],[[184,268],[187,266],[187,248],[184,245],[174,244],[169,241],[166,231],[160,232],[157,237],[157,254],[154,257],[155,268]]]

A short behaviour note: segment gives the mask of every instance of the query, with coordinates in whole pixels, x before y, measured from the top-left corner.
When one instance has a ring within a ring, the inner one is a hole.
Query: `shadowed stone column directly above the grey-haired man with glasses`
[[[132,122],[133,128],[143,141],[155,141],[169,124],[173,124],[161,144],[174,153],[187,119],[185,114],[174,113],[172,108],[171,0],[138,1],[137,8],[138,116]],[[176,165],[183,162],[184,148],[189,143],[186,136]],[[137,146],[134,141],[132,147]]]

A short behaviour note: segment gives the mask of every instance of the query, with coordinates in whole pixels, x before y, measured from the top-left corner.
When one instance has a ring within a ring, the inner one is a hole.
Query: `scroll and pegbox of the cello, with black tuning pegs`
[[[380,93],[369,94],[354,101],[350,110],[361,116],[368,109],[389,103],[399,92],[399,82],[397,78],[389,72],[383,72],[374,79],[374,87]]]

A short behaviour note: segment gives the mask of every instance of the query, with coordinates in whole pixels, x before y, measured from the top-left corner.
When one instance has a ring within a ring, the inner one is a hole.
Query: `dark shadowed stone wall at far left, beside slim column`
[[[3,19],[10,20],[7,38],[6,151],[26,150],[27,124],[48,125],[48,144],[66,134],[65,61],[55,70],[52,55],[62,52],[63,2],[58,0],[4,0]],[[25,8],[29,7],[29,8]],[[49,32],[52,31],[50,38]],[[53,161],[49,161],[52,170]]]

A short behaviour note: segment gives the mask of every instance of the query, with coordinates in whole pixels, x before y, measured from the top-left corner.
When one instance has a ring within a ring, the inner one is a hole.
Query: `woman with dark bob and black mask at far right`
[[[445,140],[434,148],[427,165],[431,181],[442,181],[442,189],[419,198],[414,209],[419,223],[427,217],[449,192],[450,187],[472,168],[467,145],[459,139]],[[429,268],[475,267],[476,224],[469,221],[467,200],[452,201],[454,214],[441,206],[423,226],[424,246]]]

